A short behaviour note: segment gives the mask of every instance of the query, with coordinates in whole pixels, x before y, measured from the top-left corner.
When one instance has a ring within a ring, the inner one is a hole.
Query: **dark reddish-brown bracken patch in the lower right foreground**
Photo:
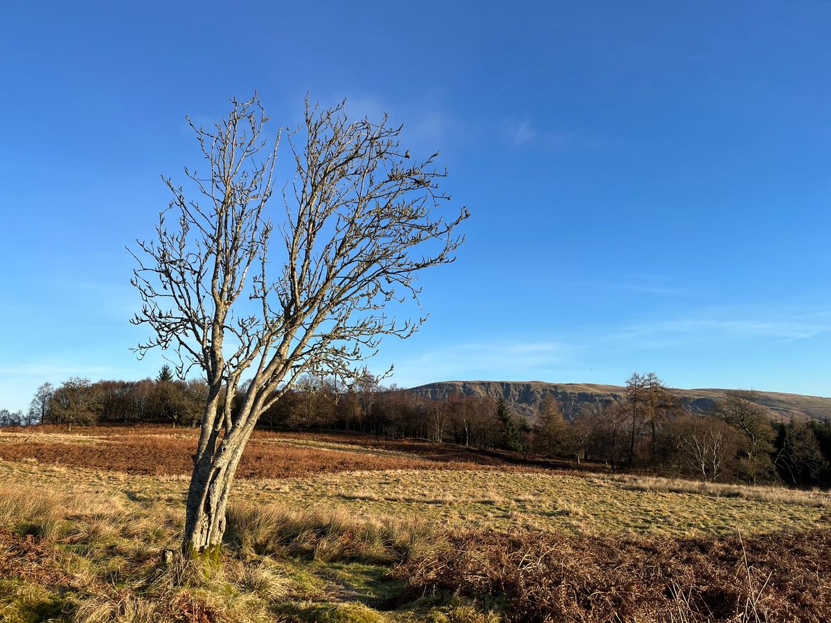
[[[804,621],[831,617],[831,531],[754,537],[460,532],[397,569],[427,592],[504,603],[507,621]]]

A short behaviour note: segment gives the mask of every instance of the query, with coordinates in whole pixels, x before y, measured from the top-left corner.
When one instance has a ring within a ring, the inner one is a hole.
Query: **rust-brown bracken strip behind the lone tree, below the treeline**
[[[190,473],[199,432],[158,424],[0,429],[0,459],[107,469],[151,476]],[[579,467],[579,469],[577,469]],[[602,465],[526,459],[519,454],[411,439],[361,434],[255,430],[238,468],[239,478],[294,478],[315,473],[389,469],[502,469],[585,473]]]

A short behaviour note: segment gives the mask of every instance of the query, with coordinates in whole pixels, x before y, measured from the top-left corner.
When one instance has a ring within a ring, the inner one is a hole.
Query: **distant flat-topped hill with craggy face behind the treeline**
[[[626,388],[619,385],[593,385],[591,383],[545,383],[541,380],[445,380],[439,383],[419,385],[409,390],[411,393],[443,400],[453,394],[463,394],[491,398],[500,395],[508,401],[514,410],[526,419],[531,419],[543,396],[553,395],[563,410],[563,415],[571,419],[580,406],[586,403],[605,403],[622,398]],[[716,389],[671,390],[681,404],[694,412],[710,410],[713,402],[724,396],[725,391]],[[806,396],[800,394],[783,394],[775,391],[756,391],[759,402],[774,412],[777,419],[831,419],[831,398]]]

